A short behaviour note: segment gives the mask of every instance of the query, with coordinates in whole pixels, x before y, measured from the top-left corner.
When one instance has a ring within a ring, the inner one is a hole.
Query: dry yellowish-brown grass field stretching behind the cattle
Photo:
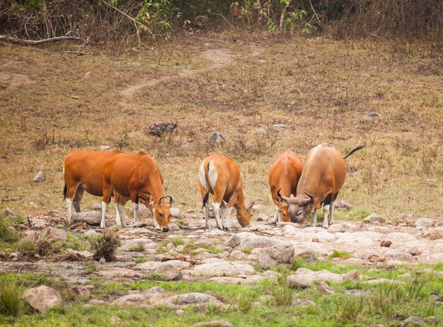
[[[267,172],[275,156],[292,149],[304,159],[327,142],[343,154],[365,146],[347,159],[339,196],[354,206],[347,218],[360,210],[442,219],[442,108],[442,54],[422,45],[232,33],[122,53],[3,43],[0,206],[24,216],[65,213],[62,159],[108,145],[151,154],[184,210],[200,207],[200,160],[231,156],[246,200],[272,214]],[[372,112],[379,119],[364,121]],[[178,122],[178,134],[146,133],[164,121]],[[215,131],[224,147],[208,144]],[[46,180],[33,183],[40,170]],[[84,207],[99,201],[86,195]]]

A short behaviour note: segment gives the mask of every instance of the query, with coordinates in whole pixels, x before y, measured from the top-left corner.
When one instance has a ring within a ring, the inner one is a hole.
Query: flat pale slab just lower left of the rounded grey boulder
[[[192,275],[200,277],[246,277],[255,273],[255,269],[252,265],[238,261],[230,262],[222,259],[209,258],[205,259],[205,262],[206,263],[203,263],[202,265],[196,265],[192,270]]]

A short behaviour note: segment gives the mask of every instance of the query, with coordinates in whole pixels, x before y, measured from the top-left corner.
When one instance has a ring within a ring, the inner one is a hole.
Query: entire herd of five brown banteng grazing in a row
[[[350,151],[350,156],[362,146]],[[320,144],[311,149],[303,164],[292,151],[277,156],[269,173],[272,200],[277,206],[272,223],[302,223],[312,212],[311,226],[317,224],[317,211],[323,207],[323,228],[334,223],[334,202],[345,183],[346,164],[337,149]],[[126,227],[125,203],[131,200],[134,226],[137,226],[139,202],[149,208],[156,229],[168,231],[173,199],[165,195],[163,176],[154,159],[144,152],[71,151],[63,161],[64,198],[67,200],[68,220],[72,205],[80,212],[84,191],[103,197],[102,220],[111,197],[114,196],[117,225]],[[246,206],[238,165],[226,156],[212,154],[198,168],[200,193],[205,210],[205,227],[209,227],[209,195],[217,228],[229,230],[231,210],[236,208],[238,223],[251,223],[254,202]]]

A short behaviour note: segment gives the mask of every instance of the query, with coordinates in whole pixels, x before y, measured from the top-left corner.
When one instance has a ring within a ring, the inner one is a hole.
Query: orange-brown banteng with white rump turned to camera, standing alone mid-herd
[[[209,193],[214,195],[212,210],[214,210],[217,228],[229,230],[232,207],[236,208],[238,223],[242,227],[249,226],[254,202],[246,207],[241,188],[240,170],[234,161],[226,156],[212,154],[200,164],[198,177],[205,208],[206,228],[209,226]]]

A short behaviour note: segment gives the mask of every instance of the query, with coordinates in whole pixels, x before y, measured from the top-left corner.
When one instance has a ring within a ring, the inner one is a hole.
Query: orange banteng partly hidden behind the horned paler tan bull
[[[296,212],[292,210],[288,212],[289,205],[286,201],[282,201],[277,195],[277,191],[287,195],[297,194],[297,183],[303,170],[303,163],[297,154],[292,151],[284,151],[277,156],[274,164],[272,164],[269,171],[269,186],[271,189],[272,200],[277,205],[275,210],[274,219],[272,224],[275,224],[277,220],[279,222],[290,222],[291,219],[295,219]]]

